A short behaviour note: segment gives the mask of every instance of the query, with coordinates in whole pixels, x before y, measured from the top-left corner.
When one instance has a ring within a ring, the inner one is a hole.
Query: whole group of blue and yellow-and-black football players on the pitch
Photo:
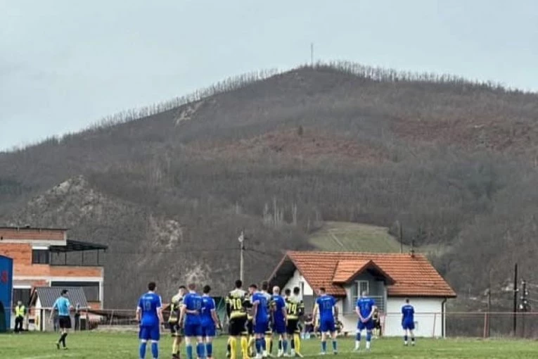
[[[158,341],[160,323],[162,323],[162,301],[155,294],[155,283],[148,284],[149,291],[139,299],[136,317],[140,323],[139,339],[140,358],[145,358],[146,343],[151,341],[153,358],[158,358]],[[212,341],[217,329],[222,329],[214,299],[210,296],[210,286],[203,287],[203,294],[196,292],[195,284],[188,287],[179,286],[178,293],[172,297],[168,324],[174,337],[172,359],[179,359],[181,338],[185,338],[186,356],[193,359],[193,346],[196,341],[196,357],[211,359]],[[336,299],[326,294],[325,288],[317,291],[316,305],[312,317],[315,330],[321,332],[321,355],[326,354],[328,334],[332,341],[333,353],[338,353],[338,306]],[[363,293],[357,299],[355,307],[358,316],[355,350],[360,350],[361,332],[366,331],[366,350],[370,350],[376,303]],[[243,282],[237,280],[235,288],[226,296],[226,315],[229,320],[229,339],[227,357],[238,359],[238,344],[241,344],[243,359],[262,359],[273,356],[273,342],[278,340],[277,357],[300,357],[301,328],[300,319],[305,314],[305,305],[300,289],[295,287],[293,293],[286,289],[281,293],[278,286],[269,294],[269,283],[250,284],[248,291],[243,289]],[[402,327],[405,330],[404,344],[414,341],[414,308],[406,300],[402,307]],[[288,346],[289,344],[289,346]]]

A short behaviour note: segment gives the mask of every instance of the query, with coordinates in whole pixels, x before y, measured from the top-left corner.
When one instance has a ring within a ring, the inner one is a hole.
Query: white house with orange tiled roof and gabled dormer
[[[354,332],[354,308],[364,291],[376,301],[385,336],[402,334],[405,298],[415,307],[417,336],[442,337],[445,308],[456,293],[430,261],[415,253],[288,251],[271,275],[271,285],[301,289],[305,308],[314,308],[316,291],[324,287],[338,299],[343,331]]]

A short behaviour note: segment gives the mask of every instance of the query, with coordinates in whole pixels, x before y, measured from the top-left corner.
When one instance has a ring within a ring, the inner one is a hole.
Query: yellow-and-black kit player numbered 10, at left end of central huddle
[[[243,282],[236,280],[236,289],[233,289],[226,297],[226,313],[229,318],[230,334],[230,358],[237,359],[237,340],[241,338],[241,351],[243,359],[250,359],[248,356],[247,341],[247,307],[249,306],[248,295],[241,287]]]

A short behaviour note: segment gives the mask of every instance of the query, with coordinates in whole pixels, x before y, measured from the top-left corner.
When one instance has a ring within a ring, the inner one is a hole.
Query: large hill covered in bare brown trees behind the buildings
[[[538,96],[351,63],[255,73],[0,153],[0,222],[108,244],[105,305],[196,279],[266,278],[324,220],[442,244],[457,291],[532,271]],[[132,283],[126,290],[124,283]]]

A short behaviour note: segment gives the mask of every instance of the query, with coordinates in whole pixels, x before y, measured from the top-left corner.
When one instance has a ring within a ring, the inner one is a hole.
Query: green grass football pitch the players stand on
[[[0,335],[0,358],[4,359],[47,359],[47,358],[100,358],[128,359],[138,358],[136,334],[106,334],[90,332],[70,334],[68,351],[58,351],[54,345],[56,335],[52,334],[5,334]],[[171,339],[168,336],[160,344],[160,358],[170,358]],[[352,339],[341,339],[338,343],[340,353],[336,358],[538,358],[538,343],[535,341],[488,340],[478,339],[419,339],[415,347],[404,347],[401,339],[378,339],[373,341],[369,353],[350,351],[354,346]],[[215,343],[215,359],[222,359],[226,339]],[[328,343],[328,348],[331,344]],[[303,341],[306,357],[316,357],[319,341]],[[148,351],[146,358],[151,358]],[[185,358],[183,355],[182,358]]]

